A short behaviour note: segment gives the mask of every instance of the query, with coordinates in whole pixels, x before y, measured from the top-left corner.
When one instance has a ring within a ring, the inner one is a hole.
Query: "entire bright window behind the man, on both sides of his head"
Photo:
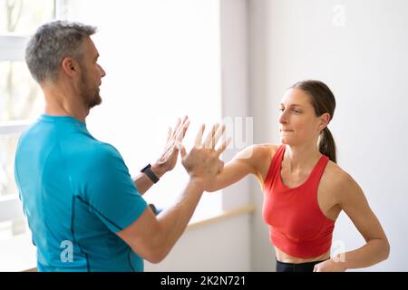
[[[219,0],[0,0],[0,239],[26,231],[15,149],[44,99],[24,49],[28,36],[55,14],[99,28],[93,40],[107,76],[102,106],[92,110],[88,129],[121,151],[132,175],[160,156],[177,117],[191,120],[188,149],[201,123],[221,119]],[[165,208],[187,178],[179,163],[145,198]],[[217,211],[221,195],[207,194],[200,203],[202,212]]]

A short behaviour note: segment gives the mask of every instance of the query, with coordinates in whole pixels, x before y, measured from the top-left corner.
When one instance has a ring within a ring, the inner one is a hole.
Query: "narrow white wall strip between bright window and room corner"
[[[247,129],[248,115],[248,5],[246,0],[222,0],[220,5],[221,36],[221,87],[222,116],[224,119],[242,121],[227,125],[227,135],[233,137],[232,146],[223,154],[223,160],[231,160],[244,147],[253,143],[251,134],[243,134]],[[252,129],[252,128],[250,128]],[[249,132],[246,132],[249,133]],[[244,136],[245,135],[245,136]],[[245,143],[245,145],[244,145]],[[223,209],[247,204],[250,200],[249,179],[222,190]]]

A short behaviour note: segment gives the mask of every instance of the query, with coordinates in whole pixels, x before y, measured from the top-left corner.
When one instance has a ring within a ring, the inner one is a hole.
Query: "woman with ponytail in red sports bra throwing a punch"
[[[328,129],[335,96],[323,82],[297,82],[280,104],[281,145],[252,145],[229,161],[207,191],[249,173],[264,192],[263,218],[277,253],[277,271],[345,271],[386,259],[390,247],[363,190],[336,164]],[[330,256],[341,211],[364,237],[363,247]]]

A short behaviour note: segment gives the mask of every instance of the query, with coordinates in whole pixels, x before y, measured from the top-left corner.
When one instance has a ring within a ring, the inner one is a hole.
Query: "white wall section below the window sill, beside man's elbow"
[[[251,271],[250,220],[245,215],[190,229],[160,264],[145,262],[145,271]]]

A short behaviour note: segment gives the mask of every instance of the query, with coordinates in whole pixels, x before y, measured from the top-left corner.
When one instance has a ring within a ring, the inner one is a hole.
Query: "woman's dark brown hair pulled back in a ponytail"
[[[333,119],[333,115],[335,114],[335,95],[324,82],[307,80],[296,82],[291,88],[300,89],[310,96],[310,102],[313,108],[315,108],[316,117],[327,112],[330,115],[330,121]],[[327,127],[320,132],[318,143],[320,153],[326,155],[330,160],[336,163],[335,140]]]

